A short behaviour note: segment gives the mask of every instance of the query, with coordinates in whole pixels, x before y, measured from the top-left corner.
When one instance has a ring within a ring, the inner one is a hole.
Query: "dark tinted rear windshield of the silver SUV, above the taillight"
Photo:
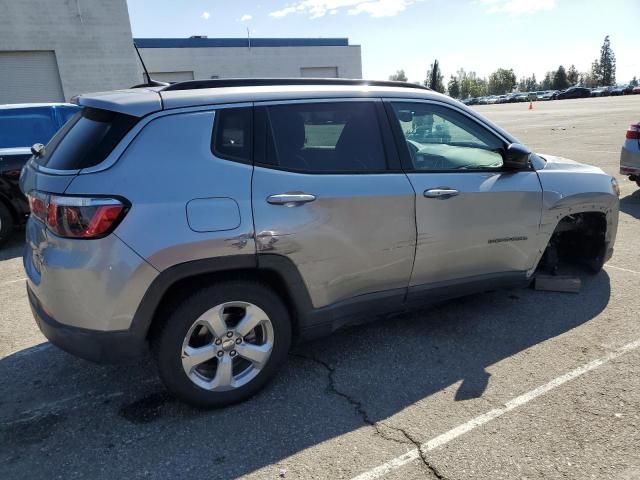
[[[36,159],[55,170],[79,170],[102,162],[138,118],[110,110],[83,108],[56,133]]]

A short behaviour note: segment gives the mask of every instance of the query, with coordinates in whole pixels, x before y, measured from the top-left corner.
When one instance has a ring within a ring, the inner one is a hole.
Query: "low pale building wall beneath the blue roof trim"
[[[251,49],[141,48],[140,53],[151,73],[192,71],[196,80],[212,77],[301,77],[301,69],[309,67],[337,67],[341,78],[362,78],[359,45]]]

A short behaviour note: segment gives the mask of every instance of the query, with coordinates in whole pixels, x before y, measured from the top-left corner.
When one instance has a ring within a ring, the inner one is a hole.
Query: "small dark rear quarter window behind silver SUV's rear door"
[[[252,108],[229,108],[216,112],[213,154],[239,162],[251,162]]]

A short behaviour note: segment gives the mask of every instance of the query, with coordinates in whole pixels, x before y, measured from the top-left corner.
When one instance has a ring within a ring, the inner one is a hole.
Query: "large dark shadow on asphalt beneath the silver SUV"
[[[147,360],[98,366],[45,343],[0,360],[0,477],[236,478],[460,381],[452,403],[481,397],[487,367],[588,322],[609,297],[602,272],[579,295],[496,291],[353,327],[296,347],[263,392],[213,411],[167,395]]]

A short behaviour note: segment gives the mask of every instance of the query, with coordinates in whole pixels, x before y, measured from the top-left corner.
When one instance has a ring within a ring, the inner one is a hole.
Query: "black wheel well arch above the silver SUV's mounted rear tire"
[[[166,321],[167,317],[174,310],[177,304],[187,295],[213,283],[230,280],[258,281],[271,288],[282,299],[289,310],[293,337],[298,337],[299,309],[293,301],[293,295],[289,291],[285,280],[274,270],[247,268],[198,274],[183,278],[173,283],[164,293],[162,300],[155,309],[149,330],[147,331],[147,339],[152,338],[159,331],[159,327],[162,323]]]

